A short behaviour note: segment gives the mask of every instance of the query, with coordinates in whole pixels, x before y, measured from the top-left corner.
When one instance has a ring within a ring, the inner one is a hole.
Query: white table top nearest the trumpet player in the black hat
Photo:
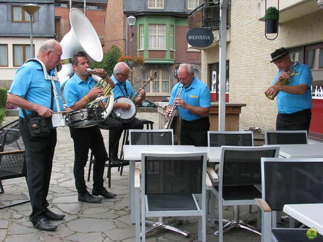
[[[285,158],[322,158],[323,144],[280,145],[279,155]]]

